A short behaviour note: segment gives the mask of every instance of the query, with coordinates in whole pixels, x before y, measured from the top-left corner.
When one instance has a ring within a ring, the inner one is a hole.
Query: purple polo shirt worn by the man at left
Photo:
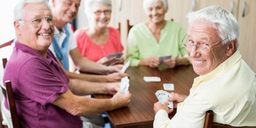
[[[20,125],[26,127],[81,128],[79,116],[53,105],[69,90],[69,79],[48,50],[47,57],[16,42],[3,81],[11,80]],[[5,98],[5,107],[8,107]]]

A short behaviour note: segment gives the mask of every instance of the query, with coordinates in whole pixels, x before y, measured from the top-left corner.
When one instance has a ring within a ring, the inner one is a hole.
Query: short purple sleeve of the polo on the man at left
[[[50,66],[53,65],[37,58],[26,61],[18,75],[18,92],[43,106],[53,103],[69,87],[68,82],[53,71],[54,66]]]

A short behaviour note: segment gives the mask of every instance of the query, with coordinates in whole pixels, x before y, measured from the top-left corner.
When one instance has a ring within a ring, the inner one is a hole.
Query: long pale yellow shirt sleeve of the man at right
[[[205,123],[205,113],[211,110],[212,104],[207,100],[201,100],[201,96],[190,96],[181,106],[178,106],[177,113],[168,118],[165,110],[159,110],[154,118],[155,128],[176,128],[176,127],[203,127]]]

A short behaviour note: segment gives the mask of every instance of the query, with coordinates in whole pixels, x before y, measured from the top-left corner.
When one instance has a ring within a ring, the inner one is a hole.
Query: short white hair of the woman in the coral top
[[[94,3],[99,2],[99,3],[104,3],[112,9],[112,1],[111,0],[85,0],[84,1],[84,13],[90,13]]]

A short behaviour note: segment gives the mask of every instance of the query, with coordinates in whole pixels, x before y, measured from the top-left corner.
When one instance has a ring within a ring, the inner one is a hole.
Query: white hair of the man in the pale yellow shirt
[[[226,11],[226,9],[222,7],[211,5],[199,11],[188,13],[187,18],[188,24],[200,20],[208,22],[211,25],[211,28],[218,31],[218,36],[224,40],[222,44],[227,44],[233,40],[238,40],[238,20],[236,20],[232,13]],[[236,47],[238,47],[238,44]]]

